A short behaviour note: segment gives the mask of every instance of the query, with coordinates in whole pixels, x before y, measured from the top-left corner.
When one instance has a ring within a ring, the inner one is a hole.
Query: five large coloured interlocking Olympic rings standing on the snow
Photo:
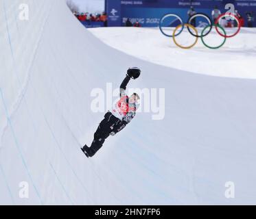
[[[237,30],[235,31],[235,33],[233,33],[231,35],[228,35],[226,33],[225,29],[219,24],[220,21],[222,21],[222,19],[226,18],[227,16],[231,17],[233,20],[235,20],[237,22]],[[167,25],[164,26],[164,24],[167,21],[167,18],[170,18],[170,17],[173,17],[174,20],[172,22],[167,22]],[[202,25],[202,31],[200,34],[198,33],[198,29],[196,29],[196,27],[195,27],[195,25],[196,25],[195,21],[196,21],[197,17],[205,18],[207,20],[207,22],[209,23],[208,25],[207,24],[205,25],[205,23]],[[165,31],[165,28],[175,26],[174,24],[176,21],[179,21],[181,24],[176,26],[176,28],[174,29],[172,34],[167,33]],[[176,40],[176,36],[180,35],[183,32],[184,27],[187,27],[189,34],[191,34],[192,36],[195,37],[194,42],[189,46],[183,46],[181,44],[178,44],[178,42]],[[218,46],[210,46],[204,40],[204,37],[211,33],[211,30],[213,29],[213,27],[215,27],[218,35],[222,36],[222,38],[223,38],[221,44]],[[201,39],[202,44],[204,44],[205,47],[207,47],[209,49],[219,49],[220,47],[222,47],[225,44],[227,38],[232,38],[240,32],[241,23],[240,23],[239,18],[237,18],[237,16],[235,16],[235,14],[232,14],[230,12],[220,14],[220,16],[218,16],[218,18],[216,19],[216,22],[214,24],[211,21],[211,18],[209,18],[209,16],[207,16],[207,14],[203,14],[203,13],[194,14],[193,16],[191,16],[189,18],[187,23],[183,23],[183,20],[177,14],[165,14],[165,16],[163,16],[160,20],[159,28],[163,35],[172,38],[174,40],[174,43],[176,44],[176,46],[180,47],[181,49],[191,49],[192,47],[194,47],[197,44],[198,38]],[[178,29],[180,29],[180,30],[178,31]]]

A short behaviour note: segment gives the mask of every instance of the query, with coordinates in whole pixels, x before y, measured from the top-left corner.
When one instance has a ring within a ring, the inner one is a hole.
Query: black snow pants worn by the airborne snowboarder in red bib
[[[93,155],[102,148],[106,138],[110,135],[113,127],[119,122],[119,118],[113,116],[111,112],[107,112],[104,116],[104,120],[100,123],[97,131],[94,133],[94,140],[91,144],[91,150]]]

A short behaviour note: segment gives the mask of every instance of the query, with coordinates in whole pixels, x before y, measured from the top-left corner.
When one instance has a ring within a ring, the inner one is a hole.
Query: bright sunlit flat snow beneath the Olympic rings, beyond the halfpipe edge
[[[226,29],[227,35],[231,36],[236,30]],[[224,46],[217,50],[207,49],[201,40],[192,49],[180,49],[172,38],[161,34],[159,28],[105,27],[89,31],[111,47],[155,64],[203,75],[256,79],[255,28],[242,28],[237,36],[228,38]],[[193,44],[195,38],[184,29],[176,40],[188,46]],[[211,47],[223,42],[214,28],[204,40]]]

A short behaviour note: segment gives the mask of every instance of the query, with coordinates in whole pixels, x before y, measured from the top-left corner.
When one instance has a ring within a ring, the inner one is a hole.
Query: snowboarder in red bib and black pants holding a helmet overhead
[[[84,145],[82,152],[86,157],[93,157],[97,151],[102,148],[108,136],[115,136],[116,133],[124,129],[132,118],[136,115],[139,107],[139,95],[134,93],[130,97],[126,95],[126,86],[130,79],[137,79],[141,75],[139,68],[129,68],[126,78],[120,86],[120,99],[112,107],[111,112],[108,111],[104,120],[100,123],[97,131],[94,133],[93,143],[91,147]]]

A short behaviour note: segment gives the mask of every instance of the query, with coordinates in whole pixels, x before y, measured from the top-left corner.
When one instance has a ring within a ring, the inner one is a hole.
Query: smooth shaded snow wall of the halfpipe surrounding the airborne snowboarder
[[[25,2],[29,21],[17,15],[23,0],[0,0],[0,204],[256,204],[255,80],[152,64],[95,38],[65,1]],[[227,53],[240,68],[238,50]],[[178,64],[186,52],[175,51]],[[143,69],[129,88],[165,88],[165,118],[139,113],[87,159],[80,146],[104,116],[91,111],[91,90],[118,88],[129,66]]]

